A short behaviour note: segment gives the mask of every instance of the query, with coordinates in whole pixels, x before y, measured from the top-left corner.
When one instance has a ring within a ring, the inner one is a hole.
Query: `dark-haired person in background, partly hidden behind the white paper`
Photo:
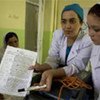
[[[0,62],[5,52],[7,45],[19,47],[19,39],[16,33],[8,32],[4,37],[4,46],[0,48]]]

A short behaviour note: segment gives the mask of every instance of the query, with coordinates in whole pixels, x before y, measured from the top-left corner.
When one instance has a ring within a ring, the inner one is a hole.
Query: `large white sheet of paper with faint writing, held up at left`
[[[28,68],[35,64],[36,58],[36,52],[7,46],[0,64],[0,93],[25,96],[27,91],[18,89],[30,87],[34,73]]]

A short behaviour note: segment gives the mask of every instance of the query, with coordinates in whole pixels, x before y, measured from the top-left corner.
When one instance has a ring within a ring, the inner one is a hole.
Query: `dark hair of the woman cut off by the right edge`
[[[100,17],[100,4],[95,4],[88,12],[88,14],[94,14]]]

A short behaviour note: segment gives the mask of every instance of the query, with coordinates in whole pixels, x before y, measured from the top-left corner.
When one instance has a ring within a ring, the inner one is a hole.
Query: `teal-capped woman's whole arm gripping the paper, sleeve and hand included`
[[[30,69],[35,69],[37,72],[43,72],[45,70],[56,68],[59,65],[59,38],[61,35],[61,30],[57,30],[53,34],[53,39],[51,47],[49,49],[48,57],[44,64],[36,64],[31,66]]]

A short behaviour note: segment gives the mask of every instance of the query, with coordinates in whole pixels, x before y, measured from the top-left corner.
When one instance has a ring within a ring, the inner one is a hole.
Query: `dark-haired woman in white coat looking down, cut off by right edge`
[[[100,4],[95,4],[88,12],[89,35],[94,43],[91,54],[92,76],[98,100],[100,100]]]

